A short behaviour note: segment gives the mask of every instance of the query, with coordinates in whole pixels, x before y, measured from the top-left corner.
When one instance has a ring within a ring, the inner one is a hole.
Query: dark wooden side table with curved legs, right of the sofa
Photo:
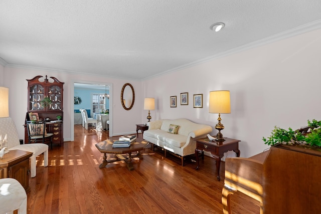
[[[196,149],[195,149],[195,155],[196,155],[196,163],[197,167],[200,166],[199,161],[199,153],[202,153],[202,159],[204,159],[204,150],[211,152],[212,156],[215,158],[216,161],[216,171],[217,171],[217,180],[221,180],[220,177],[220,166],[221,166],[221,159],[224,156],[225,152],[228,151],[234,151],[236,153],[236,156],[240,156],[240,150],[239,150],[239,142],[240,140],[235,140],[231,138],[226,138],[225,141],[210,141],[208,138],[200,138],[196,139]]]

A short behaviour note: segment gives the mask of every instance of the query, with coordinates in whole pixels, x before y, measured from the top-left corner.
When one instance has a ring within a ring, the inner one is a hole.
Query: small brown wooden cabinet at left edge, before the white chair
[[[26,192],[29,192],[29,158],[32,154],[29,151],[10,150],[0,160],[0,178],[15,178],[25,188]]]

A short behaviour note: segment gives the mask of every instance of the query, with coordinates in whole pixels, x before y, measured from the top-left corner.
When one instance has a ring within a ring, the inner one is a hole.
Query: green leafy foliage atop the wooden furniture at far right
[[[284,144],[302,144],[310,146],[321,147],[321,121],[315,119],[310,122],[307,121],[308,127],[310,127],[310,132],[306,135],[291,128],[288,130],[282,129],[280,127],[274,126],[271,135],[268,138],[263,137],[262,140],[267,145],[277,145],[280,143]]]

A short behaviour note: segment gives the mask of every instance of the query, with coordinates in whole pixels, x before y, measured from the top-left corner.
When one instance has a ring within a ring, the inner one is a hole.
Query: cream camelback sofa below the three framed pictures
[[[178,125],[178,133],[169,133],[170,125]],[[195,154],[196,142],[194,138],[205,137],[212,132],[209,125],[194,123],[188,119],[163,119],[147,123],[148,130],[144,131],[143,139],[165,149],[165,157],[167,151],[173,152],[182,160],[184,166],[184,156]]]

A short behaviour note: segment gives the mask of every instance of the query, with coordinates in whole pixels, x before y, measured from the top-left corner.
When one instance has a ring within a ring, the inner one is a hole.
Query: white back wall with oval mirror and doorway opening
[[[0,69],[1,75],[1,69]],[[69,141],[71,139],[71,121],[73,121],[74,113],[74,94],[73,94],[73,82],[95,82],[95,83],[111,83],[113,85],[112,94],[112,117],[113,117],[113,135],[123,135],[127,133],[134,133],[136,131],[135,124],[141,121],[141,97],[135,97],[135,103],[130,111],[124,110],[120,103],[121,88],[125,83],[130,83],[135,93],[141,94],[141,81],[125,80],[125,79],[112,79],[101,76],[93,75],[79,75],[69,74],[62,72],[50,72],[39,69],[27,69],[27,68],[12,68],[5,67],[4,72],[4,85],[9,87],[9,114],[10,117],[16,123],[18,134],[20,139],[24,139],[24,127],[25,116],[27,112],[28,104],[28,82],[27,79],[32,79],[35,76],[53,76],[59,81],[64,82],[64,140]]]

